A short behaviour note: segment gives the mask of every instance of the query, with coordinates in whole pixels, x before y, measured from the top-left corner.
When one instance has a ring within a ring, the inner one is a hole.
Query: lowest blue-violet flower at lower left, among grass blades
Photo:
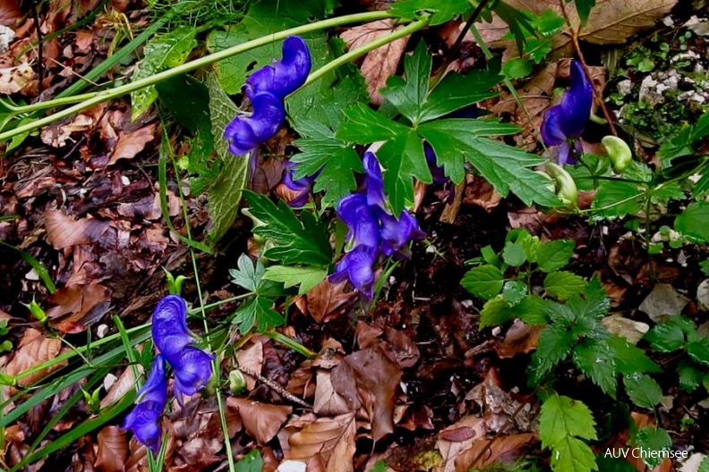
[[[167,405],[165,361],[158,356],[150,368],[148,380],[138,391],[138,404],[125,417],[123,428],[130,429],[146,447],[158,454],[160,450],[160,417]]]

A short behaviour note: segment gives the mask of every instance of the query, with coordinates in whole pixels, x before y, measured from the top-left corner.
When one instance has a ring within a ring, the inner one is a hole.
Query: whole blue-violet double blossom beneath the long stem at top
[[[286,120],[286,95],[303,86],[311,70],[311,56],[303,38],[291,36],[283,42],[283,58],[253,72],[244,92],[253,113],[237,116],[226,125],[224,137],[236,156],[246,154],[273,138]]]

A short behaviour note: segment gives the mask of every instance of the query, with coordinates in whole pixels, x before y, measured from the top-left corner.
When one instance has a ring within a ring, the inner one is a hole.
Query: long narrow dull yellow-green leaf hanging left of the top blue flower
[[[224,162],[217,181],[209,189],[208,209],[212,223],[209,240],[212,244],[221,240],[226,231],[234,224],[239,211],[242,190],[249,178],[249,159],[232,156],[224,139],[226,125],[234,120],[237,108],[221,89],[214,74],[207,78],[209,89],[209,116],[211,131],[214,136],[214,148],[217,156]]]

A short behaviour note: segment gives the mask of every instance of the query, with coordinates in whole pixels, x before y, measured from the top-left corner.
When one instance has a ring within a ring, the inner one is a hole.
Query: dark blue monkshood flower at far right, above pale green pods
[[[594,88],[586,78],[583,65],[576,59],[571,61],[571,87],[564,93],[559,105],[552,106],[544,114],[542,139],[547,146],[559,146],[560,165],[576,164],[571,147],[580,155],[579,138],[594,103]]]

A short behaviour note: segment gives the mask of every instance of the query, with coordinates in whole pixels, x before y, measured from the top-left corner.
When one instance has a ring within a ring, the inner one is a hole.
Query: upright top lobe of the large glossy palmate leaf
[[[380,92],[400,114],[416,125],[421,122],[422,106],[428,96],[431,80],[431,55],[423,40],[419,41],[413,55],[404,57],[404,72],[406,80],[391,76],[387,80],[387,88]]]

